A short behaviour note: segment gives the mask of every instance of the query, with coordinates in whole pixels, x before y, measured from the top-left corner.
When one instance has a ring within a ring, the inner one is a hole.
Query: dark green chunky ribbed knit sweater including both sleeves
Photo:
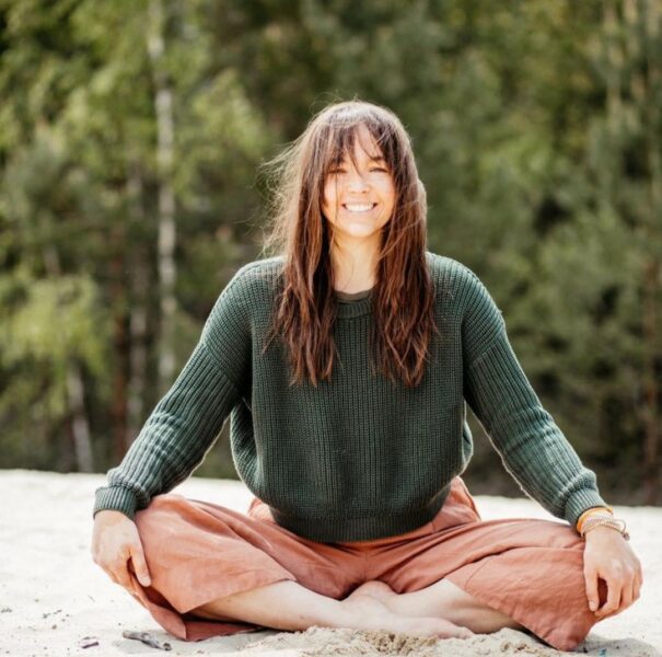
[[[289,385],[284,346],[264,338],[283,260],[243,266],[220,293],[184,369],[93,514],[132,518],[186,480],[230,416],[234,465],[283,528],[315,541],[363,541],[430,521],[464,472],[473,440],[466,404],[521,488],[574,527],[604,505],[545,411],[509,343],[501,311],[466,266],[426,252],[435,286],[432,357],[421,383],[372,374],[372,290],[337,296],[332,381]],[[218,500],[222,504],[222,500]]]

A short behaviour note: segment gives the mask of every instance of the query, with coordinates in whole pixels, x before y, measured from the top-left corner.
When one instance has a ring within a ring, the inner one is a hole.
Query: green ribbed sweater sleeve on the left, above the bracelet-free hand
[[[251,332],[237,281],[239,273],[221,292],[175,382],[121,463],[108,471],[107,485],[96,489],[93,516],[114,509],[132,519],[152,497],[185,481],[216,442],[251,367]]]

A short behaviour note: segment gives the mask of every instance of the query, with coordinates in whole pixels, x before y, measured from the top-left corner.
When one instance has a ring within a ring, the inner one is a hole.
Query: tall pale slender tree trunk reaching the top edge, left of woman
[[[172,185],[174,162],[173,94],[164,70],[165,20],[163,0],[150,0],[147,45],[152,65],[156,114],[156,163],[159,168],[159,284],[161,331],[159,346],[159,391],[164,393],[175,370],[175,194]]]

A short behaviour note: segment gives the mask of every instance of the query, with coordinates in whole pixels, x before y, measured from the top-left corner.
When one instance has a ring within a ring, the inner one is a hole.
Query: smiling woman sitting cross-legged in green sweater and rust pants
[[[223,289],[97,489],[94,561],[189,641],[265,626],[515,627],[574,648],[639,597],[641,567],[485,286],[426,251],[400,122],[334,104],[275,163],[281,255]],[[565,522],[480,519],[460,476],[473,452],[465,402],[522,489]],[[247,515],[166,494],[229,415]]]

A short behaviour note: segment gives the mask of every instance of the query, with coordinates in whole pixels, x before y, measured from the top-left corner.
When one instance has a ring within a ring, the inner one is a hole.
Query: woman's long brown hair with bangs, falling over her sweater
[[[310,120],[305,131],[271,161],[270,230],[264,252],[284,257],[271,339],[280,334],[293,372],[290,384],[309,377],[330,380],[336,346],[332,230],[322,212],[324,184],[334,163],[355,157],[364,125],[392,172],[396,200],[383,227],[373,290],[374,364],[392,382],[420,383],[434,322],[434,285],[426,262],[426,192],[407,131],[390,110],[363,101],[334,103]],[[356,164],[356,162],[355,162]],[[264,353],[263,350],[263,353]]]

